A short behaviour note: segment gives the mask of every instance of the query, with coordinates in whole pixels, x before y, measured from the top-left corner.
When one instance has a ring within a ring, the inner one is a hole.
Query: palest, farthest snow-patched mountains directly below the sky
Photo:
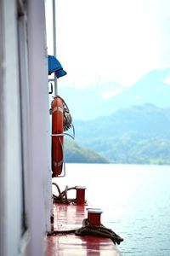
[[[160,108],[170,107],[170,68],[156,69],[146,73],[131,87],[116,82],[94,84],[84,89],[69,86],[59,88],[65,98],[73,120],[96,119],[108,116],[121,108],[150,103]]]

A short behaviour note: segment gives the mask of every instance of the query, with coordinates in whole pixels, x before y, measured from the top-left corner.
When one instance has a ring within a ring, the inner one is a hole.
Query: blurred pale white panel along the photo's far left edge
[[[3,1],[4,29],[4,255],[18,255],[21,232],[22,189],[20,151],[20,86],[16,3]],[[12,236],[13,234],[13,236]]]

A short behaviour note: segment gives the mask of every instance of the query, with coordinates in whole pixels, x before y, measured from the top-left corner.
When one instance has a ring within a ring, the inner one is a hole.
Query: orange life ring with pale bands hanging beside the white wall
[[[64,107],[63,101],[59,96],[54,97],[51,103],[52,111],[52,177],[58,177],[63,168],[63,119]]]

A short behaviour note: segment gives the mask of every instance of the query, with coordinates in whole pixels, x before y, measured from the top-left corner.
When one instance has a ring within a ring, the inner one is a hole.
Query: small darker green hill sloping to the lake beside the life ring
[[[67,163],[109,163],[105,157],[92,149],[82,148],[77,143],[65,139],[65,162]]]

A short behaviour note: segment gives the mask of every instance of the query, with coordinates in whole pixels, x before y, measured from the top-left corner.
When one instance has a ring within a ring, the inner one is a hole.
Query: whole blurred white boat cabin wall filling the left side
[[[17,20],[19,2],[0,0],[0,255],[41,256],[52,209],[45,12],[29,0]]]

